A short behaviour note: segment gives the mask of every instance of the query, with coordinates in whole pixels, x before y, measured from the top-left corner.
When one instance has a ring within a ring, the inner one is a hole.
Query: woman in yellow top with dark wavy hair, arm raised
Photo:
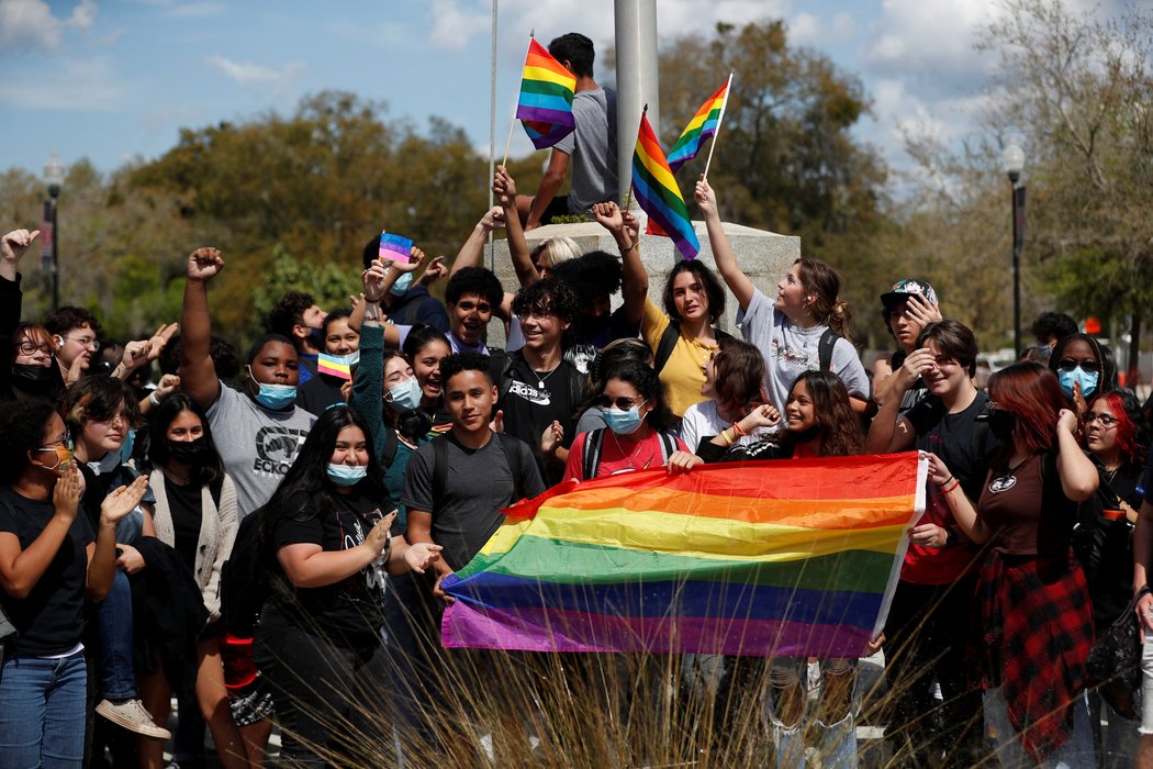
[[[664,308],[657,307],[648,297],[636,219],[616,203],[597,203],[593,212],[620,248],[625,324],[640,326],[641,338],[653,349],[653,368],[668,387],[669,406],[680,417],[689,406],[704,400],[703,367],[717,342],[730,338],[713,326],[724,315],[724,288],[702,262],[679,259],[664,285]]]

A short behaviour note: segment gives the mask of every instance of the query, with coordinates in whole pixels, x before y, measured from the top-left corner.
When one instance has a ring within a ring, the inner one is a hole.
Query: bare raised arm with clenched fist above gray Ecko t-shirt
[[[209,317],[209,281],[224,270],[224,257],[216,248],[198,248],[188,256],[188,280],[180,310],[180,386],[188,397],[208,408],[220,394],[216,364],[209,354],[212,321]]]

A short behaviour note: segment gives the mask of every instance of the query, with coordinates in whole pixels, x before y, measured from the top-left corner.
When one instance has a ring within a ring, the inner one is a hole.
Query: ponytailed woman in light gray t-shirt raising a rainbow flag
[[[709,231],[717,271],[740,304],[737,325],[745,340],[764,353],[764,387],[773,405],[781,409],[797,377],[816,369],[841,377],[854,413],[872,410],[868,376],[849,339],[849,303],[837,296],[841,276],[824,262],[797,259],[777,284],[776,301],[770,303],[737,264],[716,194],[703,176],[696,182],[695,199]]]

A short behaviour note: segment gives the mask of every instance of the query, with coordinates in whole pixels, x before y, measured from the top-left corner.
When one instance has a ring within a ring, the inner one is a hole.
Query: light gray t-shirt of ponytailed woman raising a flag
[[[784,413],[789,391],[797,377],[820,368],[817,347],[829,326],[794,326],[759,288],[753,291],[748,309],[737,312],[737,325],[745,340],[756,345],[764,355],[764,389],[773,405]],[[857,348],[847,339],[837,340],[830,368],[845,383],[850,395],[868,398],[868,376]]]

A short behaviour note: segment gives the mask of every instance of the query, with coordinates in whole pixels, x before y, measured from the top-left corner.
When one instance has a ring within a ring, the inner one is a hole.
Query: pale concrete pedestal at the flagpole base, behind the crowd
[[[664,293],[664,282],[669,271],[680,258],[680,254],[672,246],[672,240],[656,235],[645,235],[643,212],[638,212],[641,218],[641,259],[649,273],[649,296],[658,306]],[[716,263],[713,259],[713,249],[709,246],[708,234],[704,231],[703,221],[694,221],[696,236],[701,241],[701,252],[696,256],[710,270],[716,272]],[[725,223],[725,234],[732,249],[737,254],[737,261],[745,273],[753,280],[758,288],[768,296],[775,297],[777,294],[777,281],[787,272],[792,263],[800,258],[800,238],[793,235],[778,235],[764,229],[754,229],[744,225]],[[603,250],[609,254],[617,254],[617,243],[609,232],[595,221],[565,225],[547,225],[527,233],[529,249],[536,247],[541,241],[549,238],[571,238],[580,246],[581,251]],[[485,249],[484,265],[491,266],[500,279],[505,291],[515,293],[520,288],[517,281],[517,273],[512,269],[512,261],[508,257],[508,243],[498,240],[492,243],[492,252]],[[717,274],[717,279],[721,276]],[[723,285],[723,284],[722,284]],[[739,337],[736,331],[733,319],[737,315],[737,300],[725,289],[726,302],[725,312],[718,325],[724,331]],[[620,306],[620,295],[613,296],[613,308]],[[493,321],[489,324],[489,344],[503,346],[505,332],[502,323]]]

